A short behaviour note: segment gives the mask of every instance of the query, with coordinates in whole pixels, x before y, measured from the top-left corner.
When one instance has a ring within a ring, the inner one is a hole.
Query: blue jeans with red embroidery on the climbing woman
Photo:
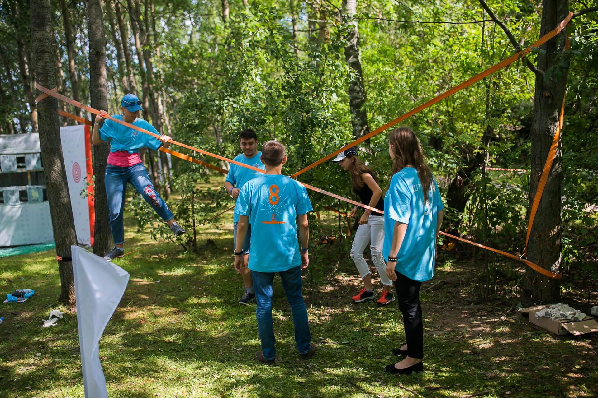
[[[110,211],[110,230],[115,245],[124,243],[124,200],[127,193],[127,182],[149,203],[154,211],[164,221],[175,218],[172,211],[164,202],[164,199],[154,189],[154,184],[149,180],[148,171],[143,163],[129,167],[106,165],[104,183],[106,184],[106,195],[108,196],[108,209]]]

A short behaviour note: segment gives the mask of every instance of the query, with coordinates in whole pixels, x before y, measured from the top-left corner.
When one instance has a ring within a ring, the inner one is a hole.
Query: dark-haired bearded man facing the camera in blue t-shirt
[[[237,155],[236,158],[234,158],[234,161],[264,169],[264,164],[260,161],[261,152],[258,151],[258,136],[255,134],[255,131],[251,129],[241,131],[239,133],[239,141],[243,153]],[[245,183],[260,174],[261,172],[259,171],[248,169],[233,163],[230,165],[230,169],[228,170],[228,175],[224,181],[224,187],[234,199],[237,199],[239,198],[239,192],[241,192],[241,188],[245,185]],[[239,214],[234,212],[233,245],[237,240],[238,222]],[[243,242],[242,248],[245,265],[247,265],[247,260],[249,257],[249,239],[251,239],[251,226],[248,226],[247,235],[245,241]],[[245,283],[245,293],[239,299],[239,304],[244,304],[246,306],[249,304],[249,301],[254,300],[255,298],[254,283],[251,280],[251,271],[249,271],[247,267],[244,267],[241,275],[243,276],[243,283]]]

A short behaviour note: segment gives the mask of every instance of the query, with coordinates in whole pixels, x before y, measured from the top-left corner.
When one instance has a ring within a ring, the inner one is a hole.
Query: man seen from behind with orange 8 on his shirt
[[[246,183],[239,193],[235,215],[239,215],[235,240],[234,267],[242,272],[251,270],[257,296],[255,317],[258,321],[262,351],[255,359],[274,363],[274,330],[272,327],[272,284],[274,274],[280,274],[286,299],[291,306],[295,326],[295,342],[301,359],[309,359],[316,352],[307,323],[307,308],[301,293],[301,270],[309,264],[307,244],[309,225],[307,212],[312,203],[303,185],[282,175],[286,163],[285,147],[278,141],[268,141],[262,150],[261,162],[266,173]],[[297,220],[301,247],[297,242]],[[251,256],[243,258],[245,236],[251,224]]]

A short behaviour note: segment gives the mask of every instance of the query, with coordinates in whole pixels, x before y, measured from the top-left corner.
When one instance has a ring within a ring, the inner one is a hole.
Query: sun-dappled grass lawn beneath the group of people
[[[127,218],[128,248],[149,243]],[[232,266],[232,220],[200,227],[200,254],[166,242],[115,261],[130,281],[100,341],[111,398],[117,397],[594,397],[598,336],[556,337],[514,311],[512,298],[471,304],[460,298],[475,277],[471,263],[450,263],[422,286],[426,371],[388,375],[390,350],[404,343],[396,303],[353,305],[359,279],[348,251],[312,260],[304,291],[318,352],[298,360],[291,311],[277,281],[276,366],[260,350],[255,304],[239,306]],[[324,250],[337,253],[333,243]],[[23,304],[1,304],[0,397],[83,397],[77,317],[57,304],[53,251],[0,259],[0,292],[33,288]],[[335,255],[335,258],[338,255]],[[444,261],[440,261],[443,263]],[[372,267],[374,276],[376,270]],[[305,271],[304,271],[305,272]],[[50,310],[65,311],[41,328]],[[82,309],[80,309],[82,310]],[[40,354],[36,356],[36,354]],[[93,398],[93,397],[92,397]]]

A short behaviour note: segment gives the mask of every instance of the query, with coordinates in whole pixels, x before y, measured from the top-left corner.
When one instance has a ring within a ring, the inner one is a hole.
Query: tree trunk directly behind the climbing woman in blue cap
[[[106,35],[101,0],[87,0],[87,32],[89,35],[89,91],[91,107],[108,109],[106,82]],[[104,184],[106,161],[110,146],[102,141],[93,146],[94,207],[96,225],[93,233],[93,253],[104,255],[110,248],[108,198]]]

